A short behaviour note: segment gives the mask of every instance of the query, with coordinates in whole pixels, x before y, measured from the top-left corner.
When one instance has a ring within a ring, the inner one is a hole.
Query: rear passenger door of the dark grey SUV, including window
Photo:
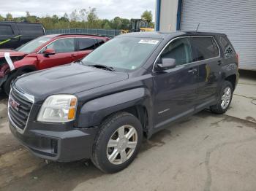
[[[220,80],[219,47],[213,36],[194,36],[192,43],[193,61],[198,65],[198,109],[215,100],[217,85]]]

